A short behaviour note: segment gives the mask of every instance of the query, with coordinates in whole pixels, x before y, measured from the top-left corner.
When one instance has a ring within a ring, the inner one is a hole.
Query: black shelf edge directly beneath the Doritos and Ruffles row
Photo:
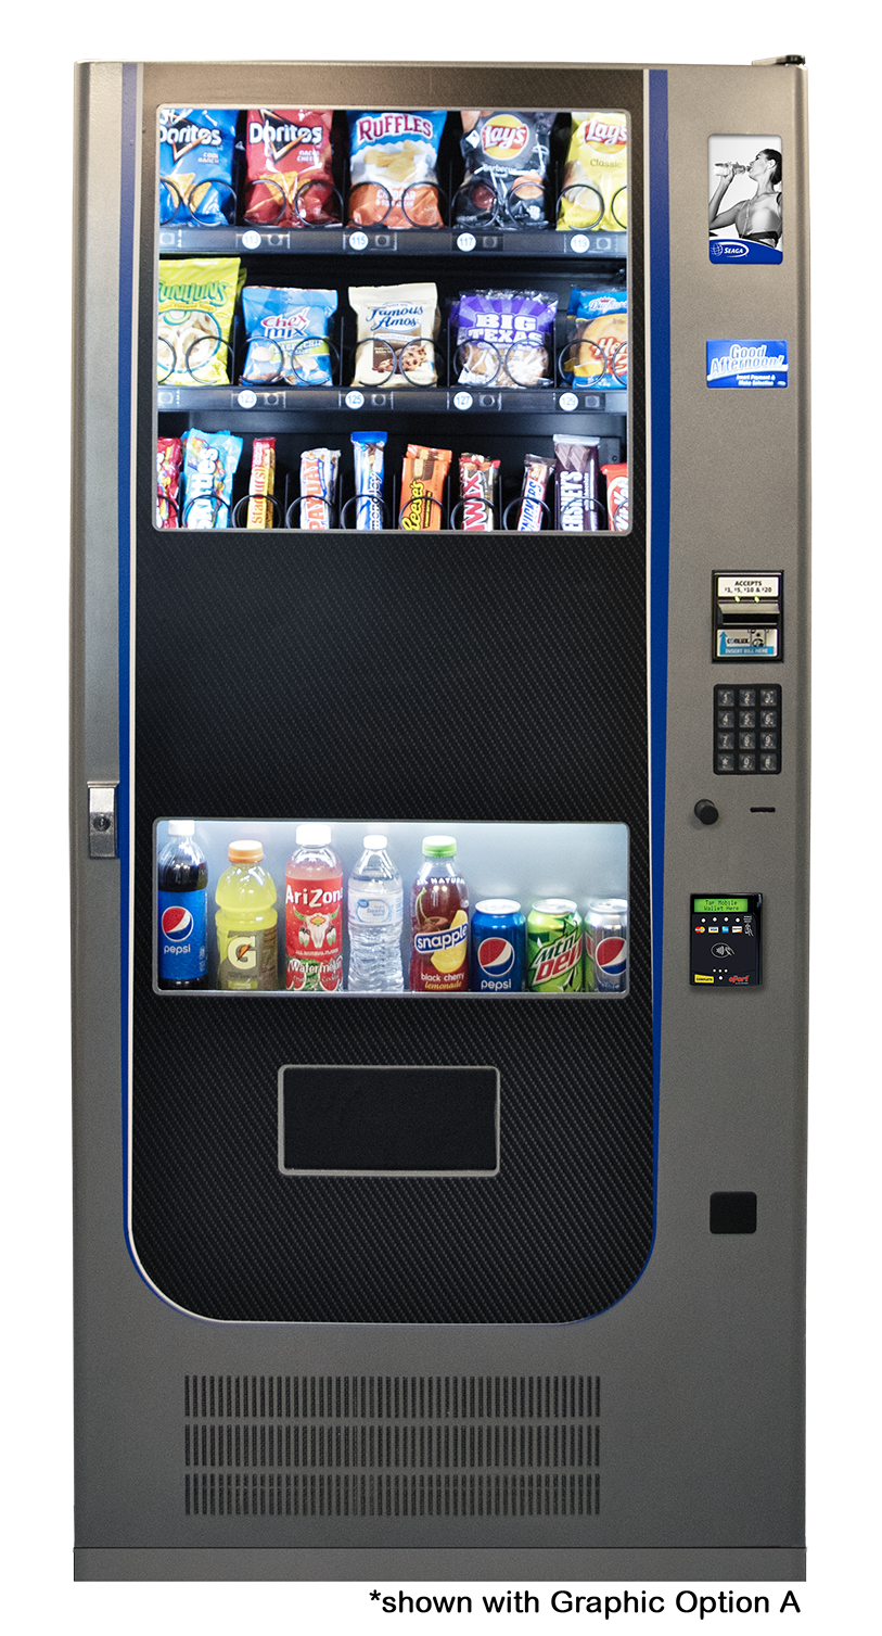
[[[460,262],[476,255],[506,260],[623,260],[627,232],[465,232],[452,227],[407,229],[406,232],[362,227],[159,227],[160,255],[371,255],[450,257]]]

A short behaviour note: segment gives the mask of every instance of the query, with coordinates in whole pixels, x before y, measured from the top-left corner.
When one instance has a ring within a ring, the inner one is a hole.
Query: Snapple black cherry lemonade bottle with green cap
[[[427,834],[425,859],[411,890],[411,990],[455,995],[468,990],[468,887],[453,859],[450,834]]]

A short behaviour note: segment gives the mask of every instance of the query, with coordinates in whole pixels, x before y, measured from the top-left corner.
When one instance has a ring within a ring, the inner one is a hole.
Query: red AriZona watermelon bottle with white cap
[[[301,823],[285,867],[286,988],[332,993],[344,987],[344,865],[326,823]]]

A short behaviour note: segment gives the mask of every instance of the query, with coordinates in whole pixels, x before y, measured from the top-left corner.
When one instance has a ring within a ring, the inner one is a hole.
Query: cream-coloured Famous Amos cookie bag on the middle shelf
[[[437,285],[360,285],[349,303],[358,316],[353,386],[437,386]]]

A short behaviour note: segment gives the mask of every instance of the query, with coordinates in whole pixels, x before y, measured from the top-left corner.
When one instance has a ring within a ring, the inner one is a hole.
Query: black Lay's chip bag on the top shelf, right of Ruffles
[[[453,204],[457,227],[548,227],[545,173],[553,113],[463,111],[465,180]]]

